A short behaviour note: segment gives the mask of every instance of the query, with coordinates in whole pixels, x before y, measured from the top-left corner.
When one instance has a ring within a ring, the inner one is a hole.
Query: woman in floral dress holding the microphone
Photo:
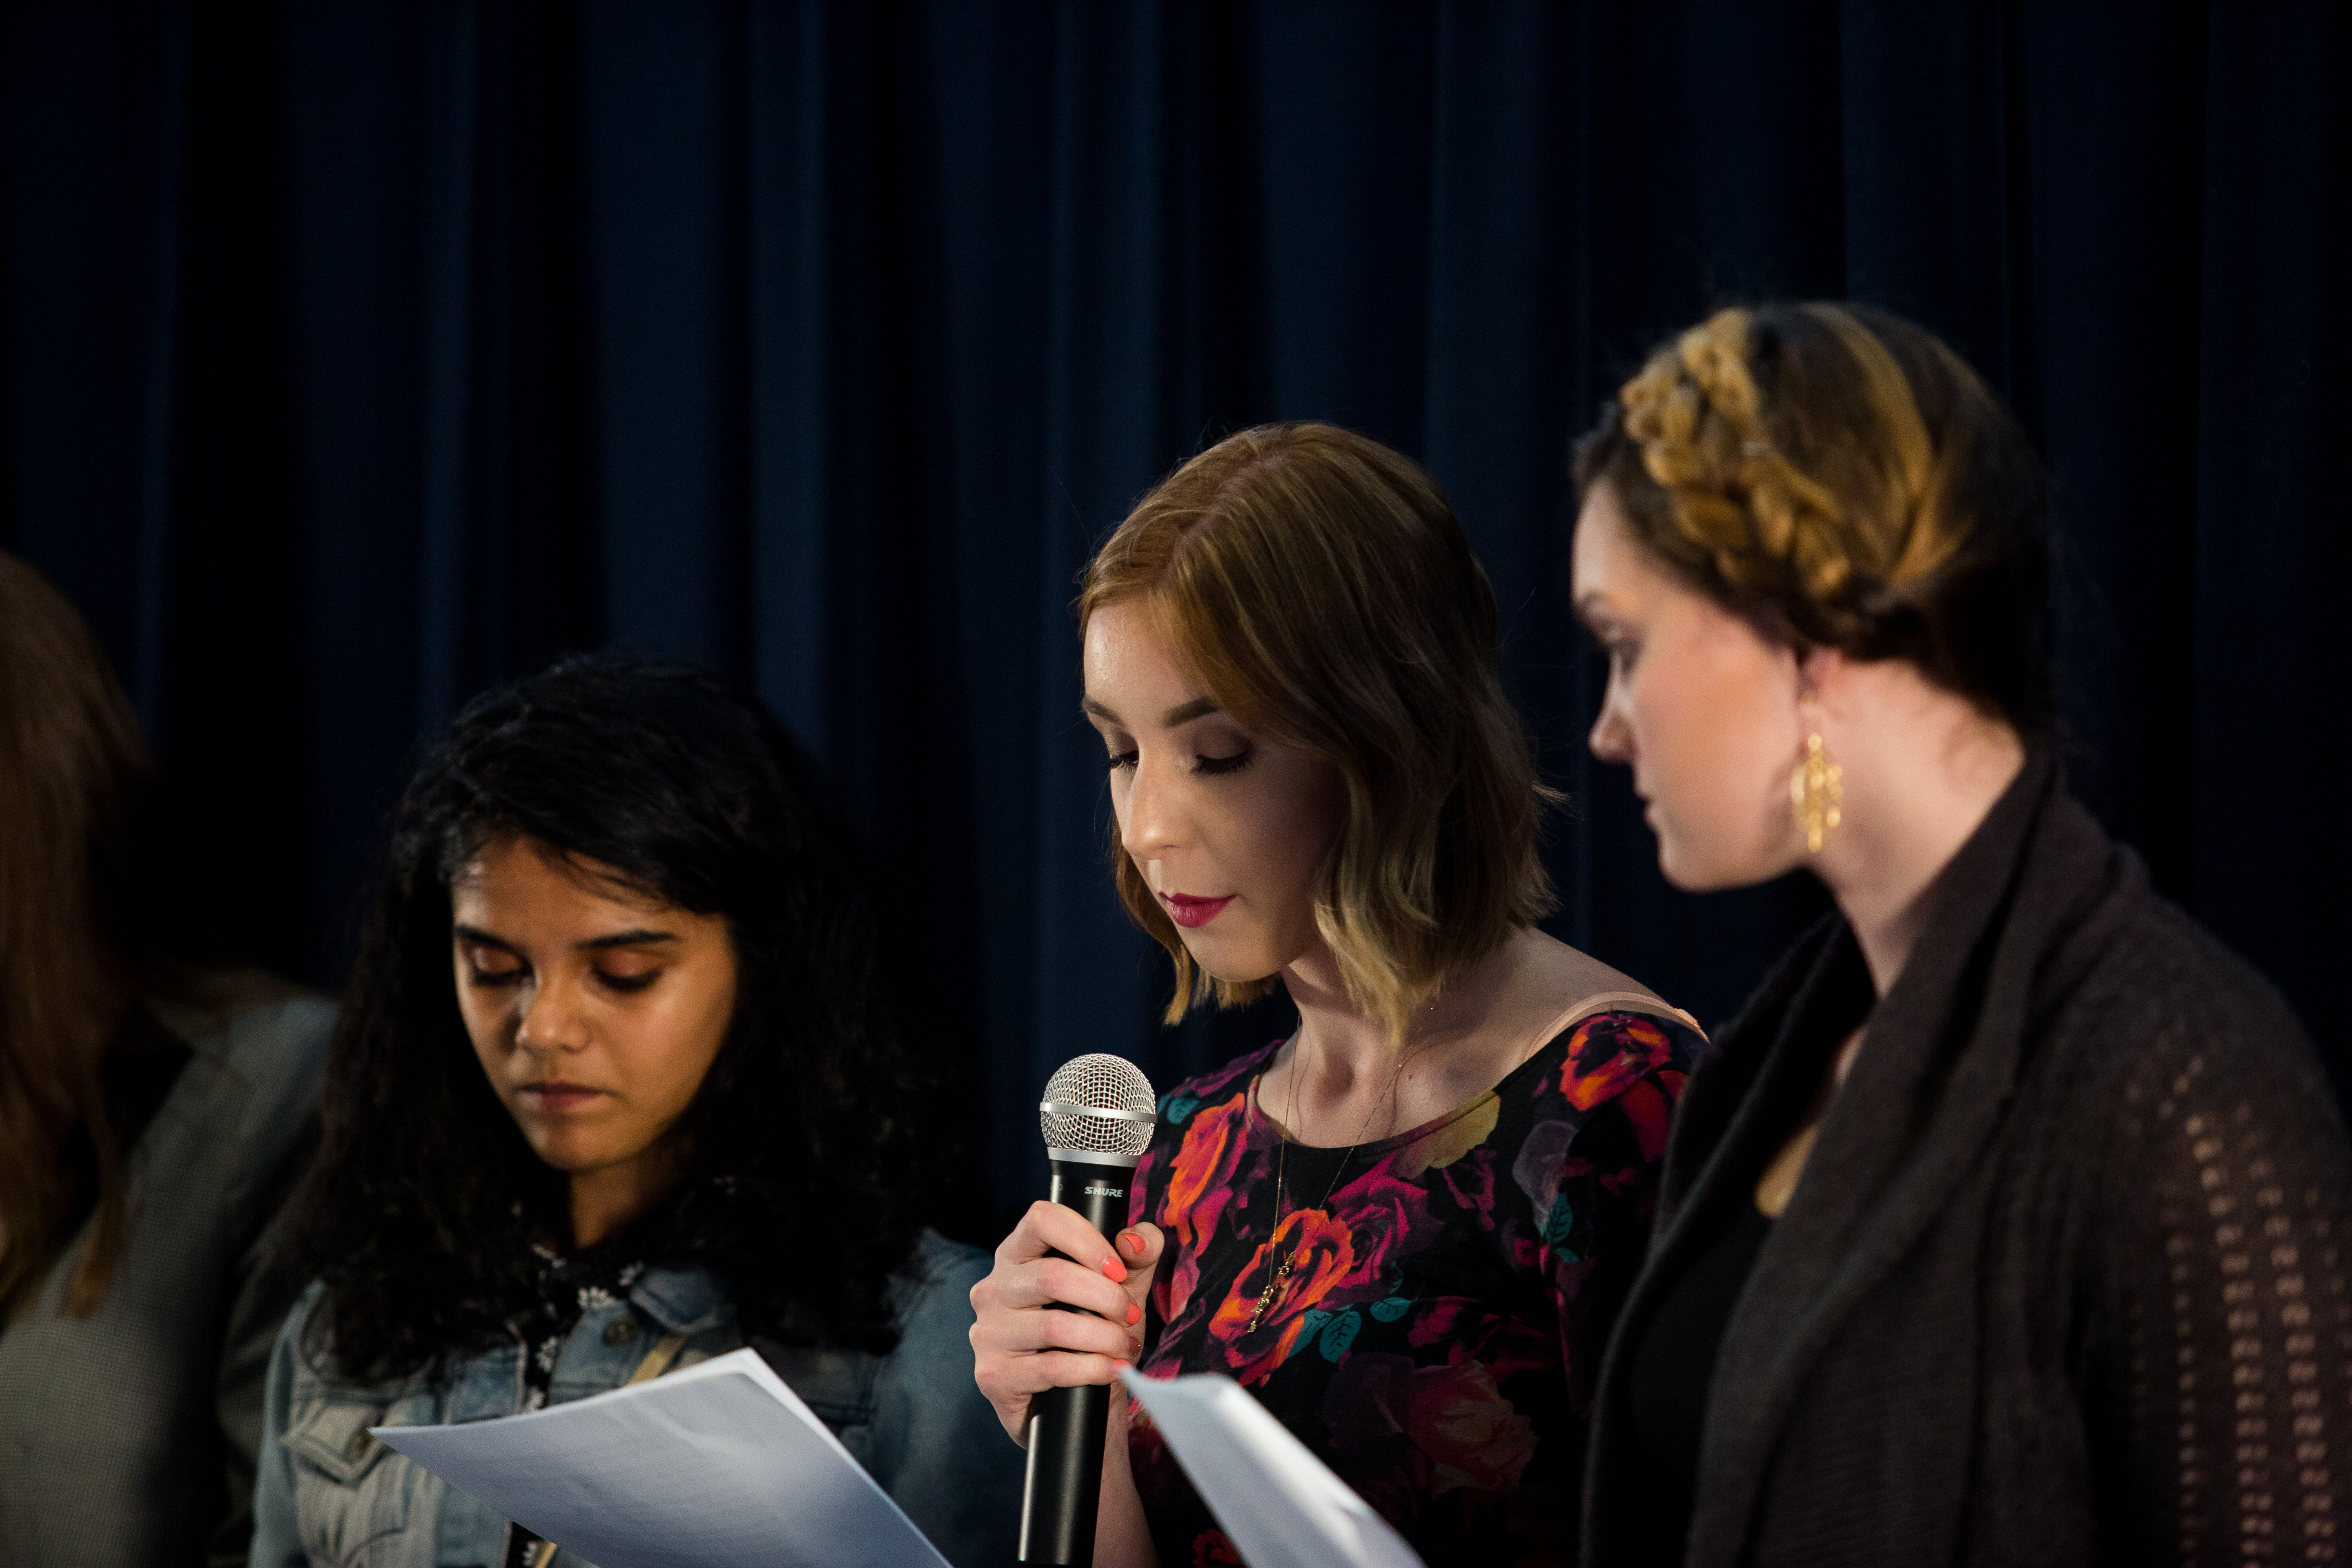
[[[1301,1023],[1162,1095],[1115,1244],[1028,1211],[971,1293],[978,1385],[1021,1441],[1047,1387],[1228,1373],[1435,1568],[1569,1559],[1703,1039],[1534,926],[1552,797],[1486,574],[1406,458],[1263,425],[1136,505],[1077,614],[1167,1018],[1279,985]],[[1237,1561],[1160,1432],[1112,1410],[1096,1561]]]

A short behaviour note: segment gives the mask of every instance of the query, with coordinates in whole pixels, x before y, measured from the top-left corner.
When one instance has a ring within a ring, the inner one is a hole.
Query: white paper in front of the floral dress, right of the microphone
[[[1232,1378],[1122,1378],[1249,1568],[1423,1568],[1404,1537]]]

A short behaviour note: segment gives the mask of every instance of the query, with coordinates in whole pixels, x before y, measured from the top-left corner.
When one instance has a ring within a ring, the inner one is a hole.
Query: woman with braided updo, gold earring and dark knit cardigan
[[[2352,1554],[2352,1150],[2065,790],[2016,421],[1891,315],[1724,310],[1576,477],[1592,750],[1665,875],[1837,900],[1682,1100],[1585,1561]]]

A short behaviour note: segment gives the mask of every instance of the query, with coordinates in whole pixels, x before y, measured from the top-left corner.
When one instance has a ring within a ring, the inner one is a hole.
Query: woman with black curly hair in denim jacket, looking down
[[[574,661],[459,715],[327,1070],[256,1566],[569,1561],[367,1429],[746,1342],[953,1561],[1011,1554],[1018,1453],[964,1375],[985,1260],[920,1225],[934,1100],[849,842],[694,670]]]

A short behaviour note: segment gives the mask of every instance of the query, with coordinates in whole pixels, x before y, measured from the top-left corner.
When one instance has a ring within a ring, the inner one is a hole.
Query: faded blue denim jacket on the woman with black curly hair
[[[1021,1509],[1021,1448],[971,1382],[969,1291],[985,1272],[978,1251],[924,1232],[891,1279],[901,1333],[891,1354],[755,1342],[960,1568],[1011,1561]],[[485,1349],[437,1380],[419,1373],[362,1387],[301,1352],[320,1298],[313,1284],[270,1354],[252,1568],[501,1568],[506,1521],[367,1429],[513,1415],[522,1403],[522,1342]],[[717,1279],[647,1269],[628,1300],[581,1314],[548,1403],[621,1387],[668,1335],[684,1335],[673,1366],[743,1345]],[[555,1563],[581,1568],[569,1552]]]

